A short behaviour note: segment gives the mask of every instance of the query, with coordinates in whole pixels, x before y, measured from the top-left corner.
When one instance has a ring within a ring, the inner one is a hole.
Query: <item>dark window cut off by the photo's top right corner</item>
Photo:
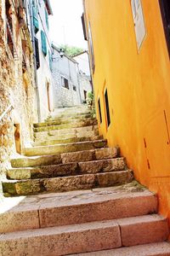
[[[165,30],[167,49],[170,55],[170,1],[160,0],[161,16],[163,20],[163,26]]]

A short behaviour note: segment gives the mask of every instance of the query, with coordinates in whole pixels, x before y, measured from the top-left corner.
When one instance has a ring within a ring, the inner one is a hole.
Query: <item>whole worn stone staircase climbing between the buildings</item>
[[[156,195],[133,180],[86,107],[59,109],[34,132],[3,181],[0,255],[170,255]]]

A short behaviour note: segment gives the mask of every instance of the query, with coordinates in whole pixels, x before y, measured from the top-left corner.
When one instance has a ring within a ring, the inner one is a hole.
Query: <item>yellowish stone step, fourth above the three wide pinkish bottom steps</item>
[[[80,142],[80,143],[65,143],[49,146],[37,146],[31,148],[25,148],[25,155],[43,155],[43,154],[60,154],[67,152],[76,152],[81,150],[89,150],[94,148],[105,148],[107,147],[106,140],[97,140],[90,142]]]

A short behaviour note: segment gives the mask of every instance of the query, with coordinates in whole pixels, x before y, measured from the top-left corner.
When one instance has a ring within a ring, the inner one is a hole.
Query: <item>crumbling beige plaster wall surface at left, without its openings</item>
[[[18,18],[13,15],[13,35],[15,57],[7,44],[5,1],[0,2],[0,115],[13,105],[14,110],[0,121],[0,181],[9,166],[9,159],[16,153],[14,142],[14,124],[20,125],[20,142],[24,149],[32,140],[32,124],[37,121],[37,105],[31,50],[26,46],[26,63],[23,66],[22,39],[23,32],[19,28]],[[15,134],[16,135],[16,134]]]

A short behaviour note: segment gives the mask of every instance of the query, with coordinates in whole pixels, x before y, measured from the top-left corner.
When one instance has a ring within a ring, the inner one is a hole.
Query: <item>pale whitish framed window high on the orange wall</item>
[[[133,11],[133,22],[134,22],[134,31],[136,35],[136,42],[139,50],[144,41],[144,37],[146,34],[141,1],[131,0],[131,7]]]

